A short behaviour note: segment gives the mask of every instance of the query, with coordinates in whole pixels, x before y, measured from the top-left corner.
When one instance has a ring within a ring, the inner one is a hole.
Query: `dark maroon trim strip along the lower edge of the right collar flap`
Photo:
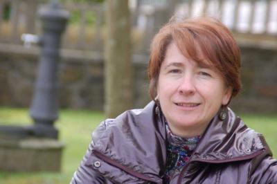
[[[181,170],[181,173],[180,173],[179,178],[177,180],[177,184],[181,184],[181,181],[184,178],[184,174],[186,172],[186,169],[188,168],[188,165],[190,165],[190,163],[193,163],[193,162],[201,162],[201,163],[231,163],[231,162],[235,162],[235,161],[248,160],[250,158],[254,158],[254,157],[262,154],[262,152],[264,152],[264,151],[265,151],[265,149],[260,149],[259,151],[256,151],[255,153],[247,155],[247,156],[240,156],[240,157],[229,158],[229,159],[224,159],[224,160],[204,160],[204,159],[201,159],[201,158],[190,159],[190,160],[188,160],[187,165],[185,165],[185,167]]]

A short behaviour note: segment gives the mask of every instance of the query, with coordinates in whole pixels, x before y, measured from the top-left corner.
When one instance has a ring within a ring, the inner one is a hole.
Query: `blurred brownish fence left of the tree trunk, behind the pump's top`
[[[0,42],[22,44],[23,33],[41,34],[39,8],[46,1],[1,0]],[[64,48],[93,49],[102,44],[103,6],[101,4],[67,3],[62,8],[71,13],[64,35]],[[7,15],[8,14],[8,15]],[[89,21],[93,17],[93,22]]]

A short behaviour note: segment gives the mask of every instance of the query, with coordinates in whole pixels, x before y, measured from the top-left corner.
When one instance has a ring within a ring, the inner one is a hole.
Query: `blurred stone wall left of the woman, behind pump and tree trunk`
[[[95,59],[75,57],[65,52],[59,66],[59,100],[62,108],[104,109],[104,68],[102,56]],[[37,75],[38,51],[26,54],[0,52],[0,105],[30,107],[35,77]],[[143,61],[148,57],[136,56],[134,60],[134,104],[143,107],[148,101],[148,82]],[[119,91],[120,93],[120,91]]]

